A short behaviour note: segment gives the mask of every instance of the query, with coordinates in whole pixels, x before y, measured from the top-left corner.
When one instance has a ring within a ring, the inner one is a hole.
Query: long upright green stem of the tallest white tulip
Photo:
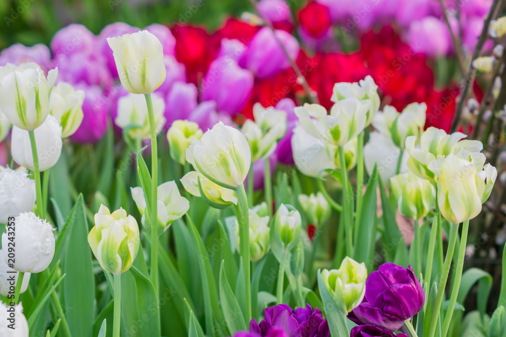
[[[156,124],[151,94],[144,95],[148,107],[149,129],[151,131],[151,281],[158,294],[158,148],[156,145]],[[158,296],[157,296],[158,298]]]

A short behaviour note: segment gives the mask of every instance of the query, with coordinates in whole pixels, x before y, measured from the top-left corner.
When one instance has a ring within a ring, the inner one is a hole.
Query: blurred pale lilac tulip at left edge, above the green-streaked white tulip
[[[41,68],[49,70],[51,52],[46,44],[37,43],[27,47],[21,43],[15,43],[0,52],[0,66],[12,63],[19,66],[21,63],[35,62]]]

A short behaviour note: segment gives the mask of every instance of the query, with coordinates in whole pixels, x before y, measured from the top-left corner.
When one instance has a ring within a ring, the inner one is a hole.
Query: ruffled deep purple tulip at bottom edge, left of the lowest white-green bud
[[[286,304],[269,307],[264,310],[264,320],[257,324],[255,319],[249,322],[249,332],[262,337],[271,336],[272,330],[283,330],[288,337],[330,337],[327,319],[320,309],[306,308],[292,310]]]

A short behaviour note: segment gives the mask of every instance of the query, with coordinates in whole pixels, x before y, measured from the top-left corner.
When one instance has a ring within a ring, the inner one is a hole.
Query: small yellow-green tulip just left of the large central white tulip
[[[204,133],[195,122],[176,120],[167,131],[168,147],[171,157],[181,165],[186,164],[186,149],[193,140],[200,139]]]

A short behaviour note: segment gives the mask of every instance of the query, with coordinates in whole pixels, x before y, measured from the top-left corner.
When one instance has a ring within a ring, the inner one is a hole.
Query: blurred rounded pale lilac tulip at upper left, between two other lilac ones
[[[72,23],[63,27],[51,39],[51,51],[54,58],[63,54],[70,56],[76,53],[93,54],[95,50],[95,35],[85,26]]]

